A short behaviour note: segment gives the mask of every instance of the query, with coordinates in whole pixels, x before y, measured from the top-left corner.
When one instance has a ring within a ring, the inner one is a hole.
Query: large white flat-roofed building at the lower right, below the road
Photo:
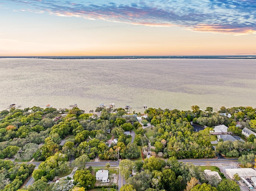
[[[226,175],[228,175],[231,179],[233,179],[234,174],[238,173],[240,177],[251,178],[256,176],[256,170],[252,168],[230,168],[225,169]]]

